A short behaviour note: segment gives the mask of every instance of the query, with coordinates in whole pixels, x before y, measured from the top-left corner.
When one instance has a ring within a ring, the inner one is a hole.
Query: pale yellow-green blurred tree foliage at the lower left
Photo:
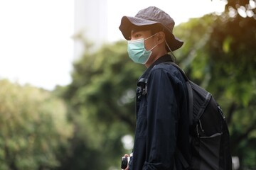
[[[63,101],[7,80],[0,80],[0,86],[0,169],[59,166],[58,148],[72,135]]]

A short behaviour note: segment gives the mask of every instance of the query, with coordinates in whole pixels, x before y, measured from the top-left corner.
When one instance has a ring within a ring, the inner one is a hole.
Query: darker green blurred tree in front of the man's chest
[[[85,52],[74,63],[73,82],[64,94],[72,110],[70,120],[76,125],[74,140],[100,153],[77,153],[81,148],[71,148],[75,160],[83,161],[76,169],[119,168],[120,153],[125,153],[121,139],[134,132],[136,82],[144,69],[129,59],[126,42]]]

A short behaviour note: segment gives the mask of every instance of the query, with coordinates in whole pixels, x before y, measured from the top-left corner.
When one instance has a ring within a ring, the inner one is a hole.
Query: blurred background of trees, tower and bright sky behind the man
[[[233,169],[256,169],[256,1],[0,1],[0,169],[120,169],[136,82],[122,16],[157,6],[184,41],[177,63],[215,96]]]

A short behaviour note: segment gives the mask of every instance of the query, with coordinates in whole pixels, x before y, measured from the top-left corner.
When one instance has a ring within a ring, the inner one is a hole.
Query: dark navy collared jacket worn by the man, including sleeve
[[[176,146],[188,160],[186,81],[176,67],[165,62],[171,62],[171,56],[160,57],[139,78],[137,127],[129,170],[183,169],[175,154]]]

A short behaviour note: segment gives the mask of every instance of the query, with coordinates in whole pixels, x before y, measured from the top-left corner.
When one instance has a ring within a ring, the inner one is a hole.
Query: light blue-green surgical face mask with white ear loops
[[[155,33],[154,35],[156,35]],[[149,38],[153,37],[154,35],[151,35]],[[157,46],[157,44],[152,47],[149,51],[145,49],[144,41],[148,40],[149,38],[141,38],[138,40],[128,40],[128,55],[132,59],[132,61],[139,63],[139,64],[145,64],[149,57],[151,56],[152,52],[151,50],[154,49],[154,47]]]

